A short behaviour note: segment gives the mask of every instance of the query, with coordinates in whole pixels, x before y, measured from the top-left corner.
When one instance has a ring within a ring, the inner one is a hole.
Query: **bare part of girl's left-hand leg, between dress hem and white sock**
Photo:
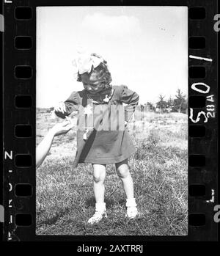
[[[92,164],[93,167],[93,189],[95,194],[95,202],[104,202],[105,185],[104,181],[106,178],[106,165],[105,164]]]

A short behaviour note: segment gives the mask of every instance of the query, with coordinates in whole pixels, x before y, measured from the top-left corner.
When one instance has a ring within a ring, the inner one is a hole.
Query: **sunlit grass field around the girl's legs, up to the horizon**
[[[37,111],[37,144],[57,121]],[[92,166],[73,169],[76,132],[54,139],[37,169],[37,235],[187,235],[188,131],[186,114],[155,114],[128,125],[136,153],[128,164],[141,215],[125,219],[125,193],[114,165],[107,166],[108,219],[87,224],[94,213]]]

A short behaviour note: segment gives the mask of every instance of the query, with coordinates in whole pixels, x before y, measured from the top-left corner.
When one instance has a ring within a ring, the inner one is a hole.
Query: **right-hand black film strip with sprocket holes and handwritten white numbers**
[[[217,238],[217,45],[210,24],[215,13],[207,6],[190,8],[188,15],[188,224],[192,234],[199,227],[200,239],[208,241]]]

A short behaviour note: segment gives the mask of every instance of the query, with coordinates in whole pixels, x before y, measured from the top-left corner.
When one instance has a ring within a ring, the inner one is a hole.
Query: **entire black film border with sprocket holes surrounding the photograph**
[[[35,7],[30,7],[29,1],[4,3],[4,30],[7,30],[4,33],[4,62],[7,63],[4,65],[7,76],[4,76],[3,116],[4,188],[7,188],[4,190],[4,237],[7,241],[29,241],[37,240],[34,230]],[[213,241],[217,238],[217,226],[213,221],[214,211],[218,210],[215,209],[218,202],[217,35],[211,31],[216,4],[217,1],[210,4],[207,1],[178,3],[189,7],[188,236],[161,238],[161,241]],[[50,4],[44,2],[41,5]],[[151,5],[160,5],[160,1]],[[8,45],[8,42],[13,43]],[[62,240],[60,237],[56,239]],[[80,237],[78,239],[81,241]]]

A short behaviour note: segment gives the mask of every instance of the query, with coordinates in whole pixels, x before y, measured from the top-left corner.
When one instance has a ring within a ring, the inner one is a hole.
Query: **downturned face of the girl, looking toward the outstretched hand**
[[[84,88],[90,93],[98,93],[103,87],[100,81],[98,81],[99,72],[97,70],[92,70],[92,73],[81,74],[81,81],[84,84]]]

